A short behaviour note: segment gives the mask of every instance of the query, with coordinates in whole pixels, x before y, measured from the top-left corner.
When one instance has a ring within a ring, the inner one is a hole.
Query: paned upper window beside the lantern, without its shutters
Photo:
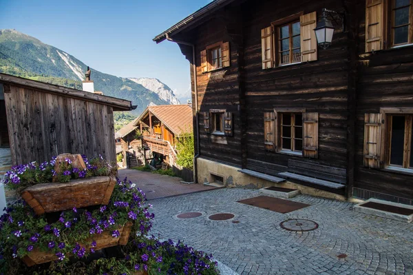
[[[278,28],[279,65],[301,62],[299,21]]]

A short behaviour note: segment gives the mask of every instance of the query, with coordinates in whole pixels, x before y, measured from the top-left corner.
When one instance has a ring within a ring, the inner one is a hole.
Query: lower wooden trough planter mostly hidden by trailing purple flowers
[[[96,241],[96,247],[93,247],[95,250],[112,247],[116,245],[126,245],[129,240],[129,234],[131,233],[132,223],[127,222],[123,227],[119,227],[118,231],[120,233],[119,238],[112,237],[112,230],[105,230],[102,234],[94,234],[93,236],[87,238],[87,245],[79,243],[81,247],[86,249],[92,248],[90,245],[92,241]],[[72,255],[66,255],[72,256]],[[28,255],[21,258],[21,261],[25,263],[28,267],[33,265],[39,265],[41,263],[48,263],[51,261],[57,261],[59,258],[52,252],[43,252],[39,249],[34,249]]]

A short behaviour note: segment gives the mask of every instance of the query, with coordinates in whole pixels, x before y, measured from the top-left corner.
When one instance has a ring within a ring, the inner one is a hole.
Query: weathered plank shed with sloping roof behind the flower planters
[[[116,161],[114,111],[131,110],[114,97],[0,74],[0,146],[13,165],[63,153]]]

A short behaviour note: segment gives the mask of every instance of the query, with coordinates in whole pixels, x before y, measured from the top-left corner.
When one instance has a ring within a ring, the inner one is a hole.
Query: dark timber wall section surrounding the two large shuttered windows
[[[347,34],[337,30],[332,45],[318,51],[318,60],[262,70],[260,30],[297,12],[317,12],[328,6],[342,10],[337,1],[248,1],[244,10],[245,91],[248,117],[248,161],[288,166],[288,159],[332,167],[347,166],[348,52]],[[319,158],[308,160],[264,150],[264,112],[274,108],[306,108],[319,113]]]

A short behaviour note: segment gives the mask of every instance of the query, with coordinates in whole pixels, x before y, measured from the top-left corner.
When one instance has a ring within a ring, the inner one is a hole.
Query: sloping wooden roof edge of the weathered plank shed
[[[74,99],[81,99],[83,101],[91,101],[103,105],[109,105],[114,108],[114,111],[130,111],[134,110],[131,101],[125,99],[118,99],[112,96],[104,96],[101,94],[94,94],[92,92],[84,92],[72,88],[66,88],[59,85],[53,85],[40,81],[30,79],[23,79],[21,77],[14,77],[10,74],[0,73],[0,83],[16,85],[21,87],[28,87],[39,92],[47,92],[50,94],[58,94],[60,96],[67,96]]]

